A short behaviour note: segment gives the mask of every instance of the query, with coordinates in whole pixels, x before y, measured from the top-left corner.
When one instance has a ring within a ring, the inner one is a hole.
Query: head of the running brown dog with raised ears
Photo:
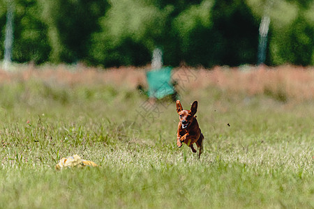
[[[194,115],[196,114],[197,101],[193,102],[192,106],[190,107],[190,110],[183,109],[180,100],[177,100],[176,104],[182,128],[186,128],[188,127],[188,125],[190,125],[190,123],[192,123]]]

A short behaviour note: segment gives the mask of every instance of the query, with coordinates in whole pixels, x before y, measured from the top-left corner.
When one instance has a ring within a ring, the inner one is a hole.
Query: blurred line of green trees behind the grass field
[[[268,65],[314,65],[312,0],[0,0],[0,58],[14,3],[13,61],[146,65],[256,64],[269,7]]]

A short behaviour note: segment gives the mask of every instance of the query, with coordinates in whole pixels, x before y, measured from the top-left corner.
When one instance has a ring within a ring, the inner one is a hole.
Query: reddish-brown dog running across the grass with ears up
[[[198,158],[203,152],[203,139],[204,136],[198,126],[196,120],[196,111],[197,111],[197,101],[194,101],[190,110],[183,109],[181,102],[177,100],[177,112],[179,114],[179,125],[177,132],[177,146],[180,148],[182,146],[182,142],[187,144],[193,153],[196,153],[193,144],[196,143],[198,148]]]

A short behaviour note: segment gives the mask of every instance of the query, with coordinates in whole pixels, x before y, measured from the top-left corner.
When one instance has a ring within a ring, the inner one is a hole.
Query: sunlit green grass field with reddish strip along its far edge
[[[175,69],[200,160],[143,69],[21,68],[0,72],[0,208],[314,208],[311,68]],[[54,170],[74,154],[100,167]]]

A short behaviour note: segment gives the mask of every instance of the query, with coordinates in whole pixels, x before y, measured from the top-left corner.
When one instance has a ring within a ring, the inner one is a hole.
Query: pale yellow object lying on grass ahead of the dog
[[[56,165],[56,170],[68,169],[68,168],[82,168],[82,167],[98,167],[98,165],[89,160],[83,160],[79,155],[73,155],[70,157],[63,157]]]

